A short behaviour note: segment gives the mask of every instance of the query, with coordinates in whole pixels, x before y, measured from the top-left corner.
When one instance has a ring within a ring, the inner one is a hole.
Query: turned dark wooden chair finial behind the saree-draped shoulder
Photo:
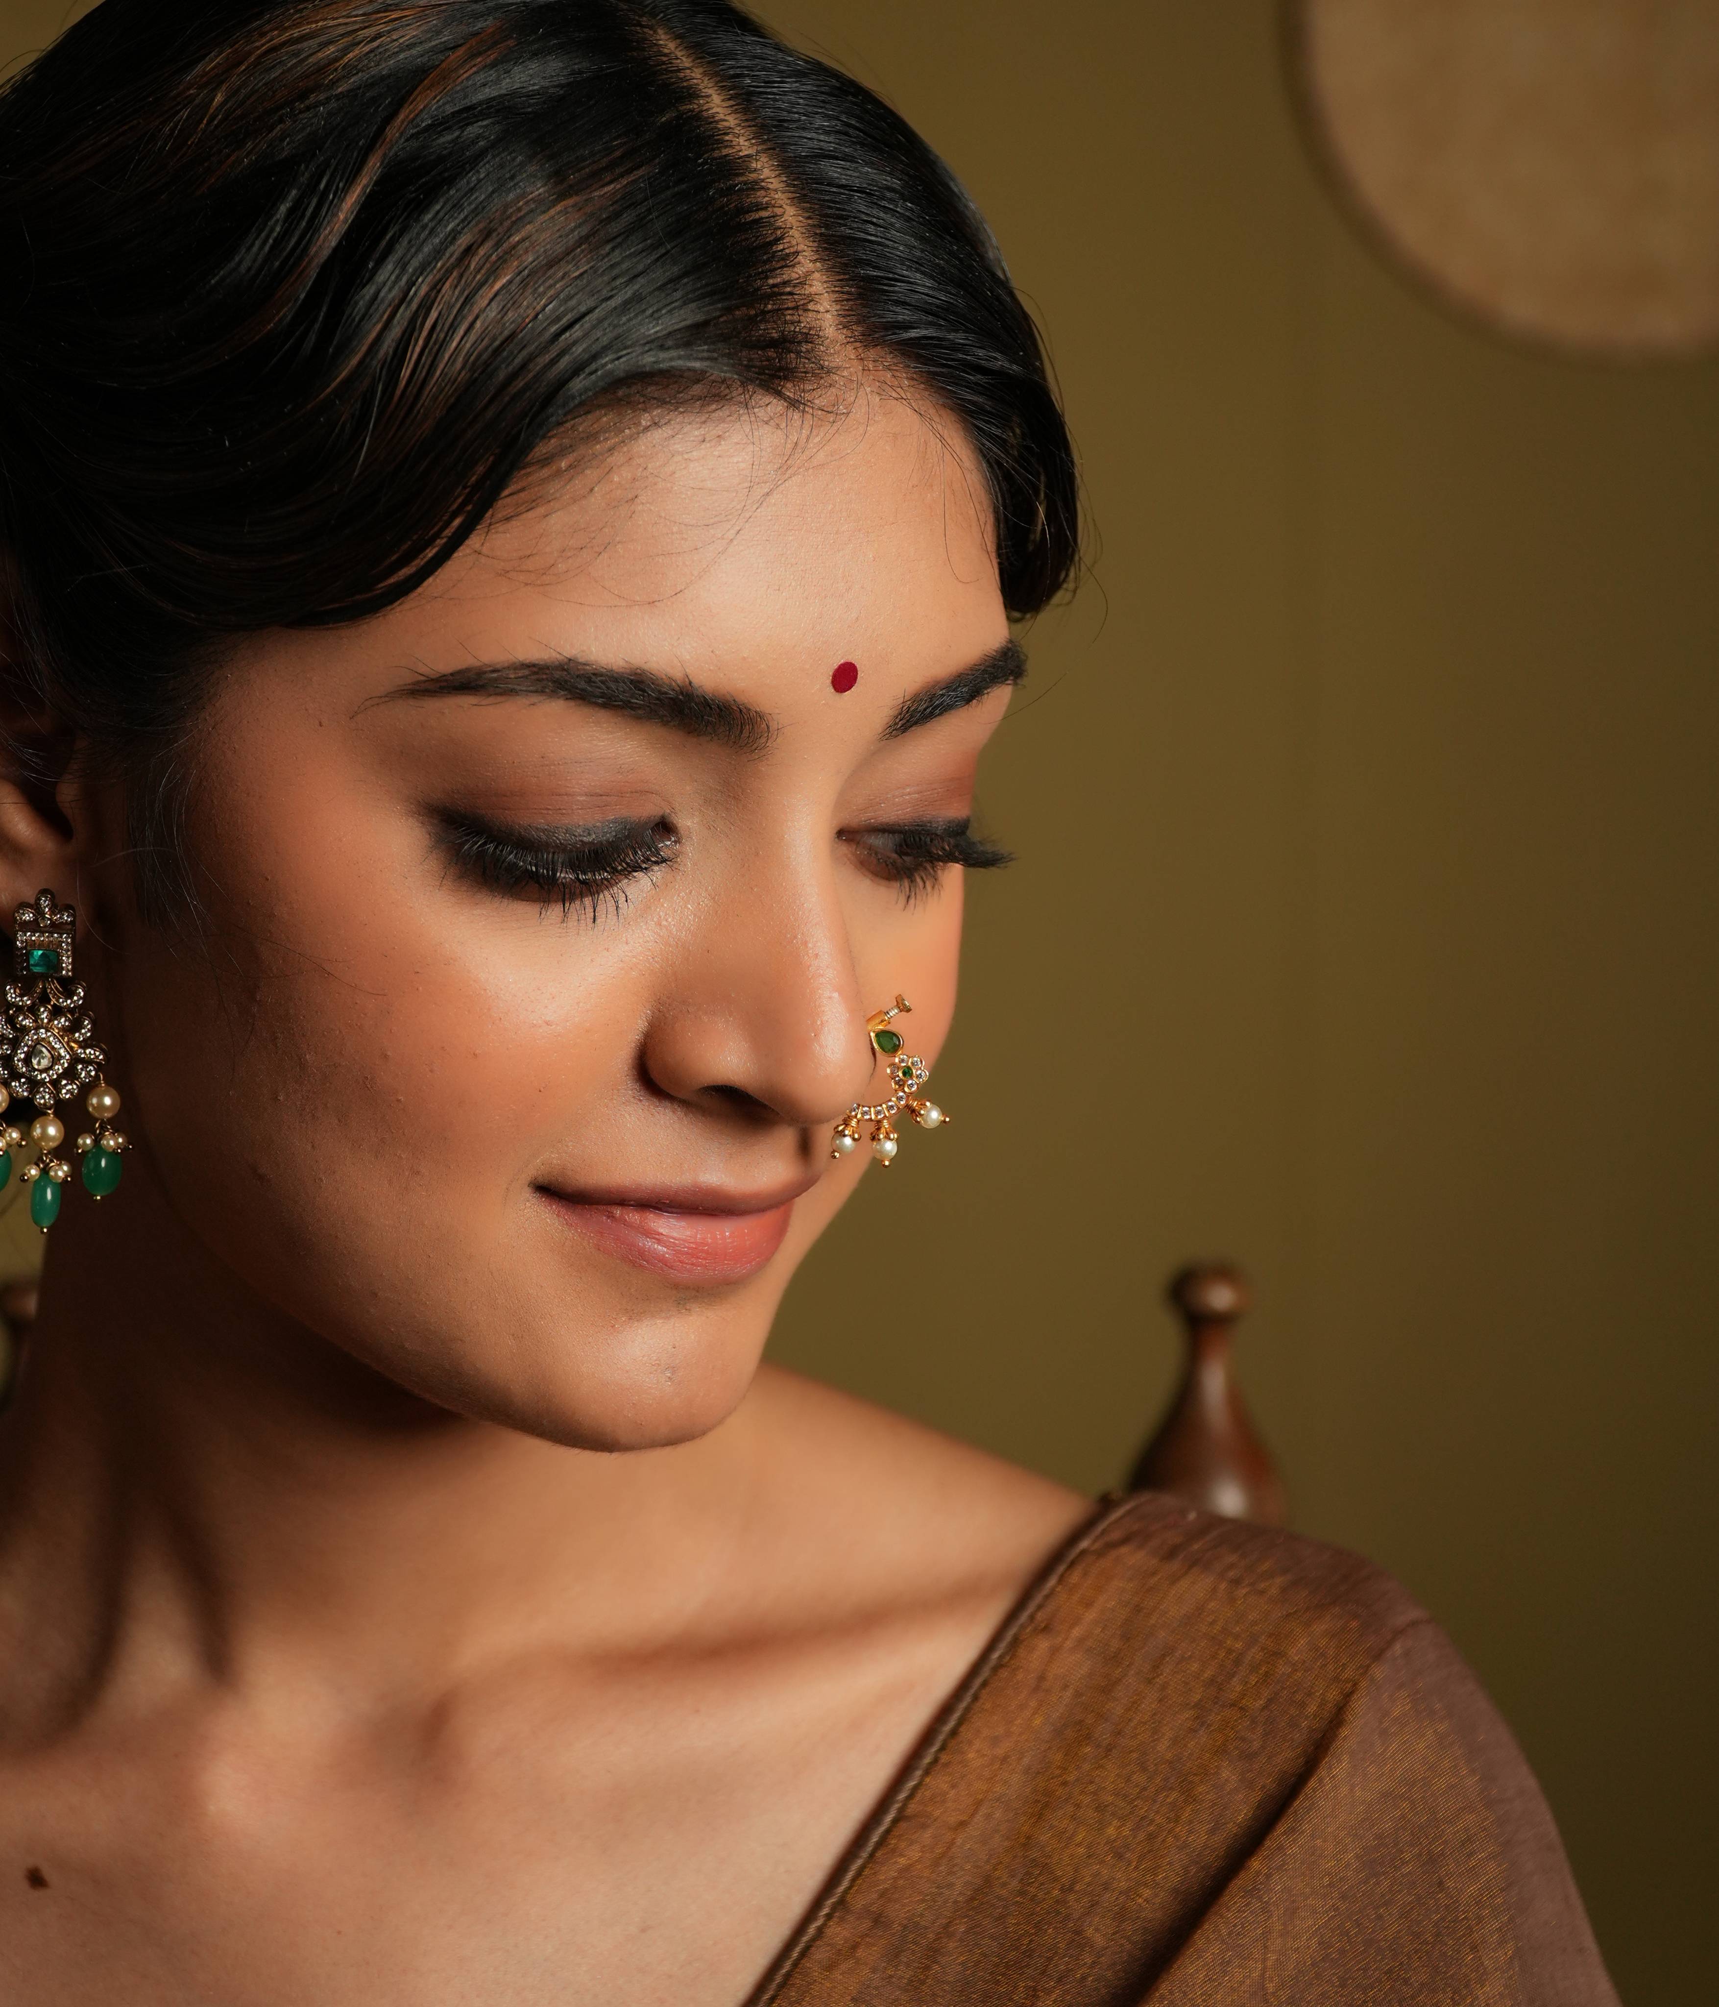
[[[1232,1339],[1254,1293],[1230,1262],[1191,1262],[1165,1293],[1187,1337],[1187,1369],[1129,1491],[1171,1491],[1228,1519],[1284,1525],[1284,1479],[1236,1385]]]

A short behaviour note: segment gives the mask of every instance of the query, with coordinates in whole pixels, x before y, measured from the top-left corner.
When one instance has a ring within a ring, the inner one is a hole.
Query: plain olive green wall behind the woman
[[[1268,0],[764,12],[991,217],[1101,540],[985,783],[1021,863],[973,885],[957,1122],[776,1353],[1097,1491],[1165,1272],[1244,1260],[1296,1523],[1476,1664],[1625,1999],[1705,1997],[1719,363],[1428,305],[1308,165]]]

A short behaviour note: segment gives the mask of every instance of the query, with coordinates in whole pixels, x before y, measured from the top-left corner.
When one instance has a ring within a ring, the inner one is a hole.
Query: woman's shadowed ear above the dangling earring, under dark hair
[[[36,696],[14,580],[0,552],[0,915],[44,885],[72,899],[86,861],[68,779],[78,737]]]

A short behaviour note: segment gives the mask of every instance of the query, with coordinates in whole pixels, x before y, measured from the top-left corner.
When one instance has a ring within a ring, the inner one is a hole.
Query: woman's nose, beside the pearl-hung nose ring
[[[800,1128],[865,1096],[873,1050],[828,875],[752,875],[712,909],[650,1018],[644,1070],[680,1102]]]

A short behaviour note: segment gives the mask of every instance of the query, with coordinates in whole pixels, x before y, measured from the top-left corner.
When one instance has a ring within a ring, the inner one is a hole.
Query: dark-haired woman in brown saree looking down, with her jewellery
[[[925,147],[724,0],[104,0],[0,191],[0,2003],[1609,1999],[1392,1584],[758,1365],[1075,558]]]

